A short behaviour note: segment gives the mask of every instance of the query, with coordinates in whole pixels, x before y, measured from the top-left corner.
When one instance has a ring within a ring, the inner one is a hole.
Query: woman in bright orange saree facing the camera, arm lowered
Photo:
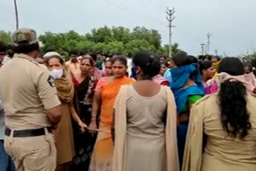
[[[113,121],[114,101],[122,85],[134,83],[134,79],[126,77],[127,60],[124,56],[112,59],[114,76],[101,78],[95,89],[92,121],[90,129],[96,129],[96,117],[100,109],[99,129],[94,152],[90,161],[90,171],[111,171],[114,145],[111,138],[111,125]],[[108,132],[106,132],[108,131]]]

